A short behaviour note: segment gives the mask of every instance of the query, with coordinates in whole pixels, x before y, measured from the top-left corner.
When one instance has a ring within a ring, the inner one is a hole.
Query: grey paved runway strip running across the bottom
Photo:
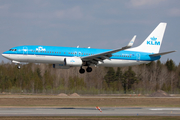
[[[180,108],[0,108],[0,116],[180,116]]]

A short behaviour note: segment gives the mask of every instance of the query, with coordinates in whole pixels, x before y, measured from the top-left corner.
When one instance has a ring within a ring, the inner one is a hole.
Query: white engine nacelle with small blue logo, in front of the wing
[[[73,67],[79,67],[82,66],[82,60],[78,57],[68,57],[64,58],[64,65],[65,66],[73,66]]]

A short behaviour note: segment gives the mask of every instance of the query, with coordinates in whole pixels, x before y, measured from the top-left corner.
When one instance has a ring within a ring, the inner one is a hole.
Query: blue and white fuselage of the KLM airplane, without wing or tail
[[[111,49],[27,45],[11,48],[9,51],[4,52],[3,56],[19,62],[64,64],[64,59],[68,57],[85,57],[110,50]],[[160,59],[160,56],[150,57],[149,54],[150,53],[123,50],[112,54],[110,60],[99,61],[98,65],[122,67],[149,63]]]

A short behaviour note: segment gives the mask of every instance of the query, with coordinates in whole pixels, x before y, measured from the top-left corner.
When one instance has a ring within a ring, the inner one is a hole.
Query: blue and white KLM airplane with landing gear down
[[[2,56],[17,64],[48,63],[53,68],[69,69],[80,67],[79,73],[91,72],[91,66],[123,67],[147,64],[159,60],[162,55],[175,51],[159,53],[167,23],[159,23],[152,33],[138,47],[131,48],[136,35],[129,44],[118,49],[95,49],[59,46],[25,45],[17,46],[3,52]]]

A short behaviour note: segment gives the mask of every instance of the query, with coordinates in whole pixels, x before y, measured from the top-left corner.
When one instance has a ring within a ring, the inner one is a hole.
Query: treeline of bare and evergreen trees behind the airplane
[[[51,64],[0,64],[0,92],[79,94],[137,93],[157,90],[180,93],[180,64],[151,62],[132,67],[93,67],[79,74],[79,67],[54,69]]]

